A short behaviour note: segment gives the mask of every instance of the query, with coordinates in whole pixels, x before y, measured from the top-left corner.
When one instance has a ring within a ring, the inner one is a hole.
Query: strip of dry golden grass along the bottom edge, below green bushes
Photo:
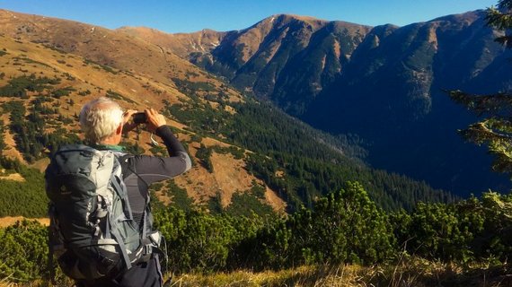
[[[182,274],[167,286],[331,286],[331,287],[429,287],[512,286],[512,275],[504,266],[461,266],[413,258],[398,265],[301,266],[282,271],[220,274]]]

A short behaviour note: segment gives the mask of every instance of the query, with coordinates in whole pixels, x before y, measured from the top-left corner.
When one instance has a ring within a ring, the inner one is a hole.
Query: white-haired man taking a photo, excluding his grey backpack
[[[114,151],[120,159],[122,178],[127,187],[128,202],[134,221],[141,232],[151,230],[153,219],[151,213],[146,213],[149,204],[148,187],[156,182],[173,178],[190,170],[190,157],[183,145],[166,126],[163,115],[154,109],[146,109],[146,130],[160,136],[167,147],[169,157],[154,157],[148,155],[129,155],[122,152],[118,144],[123,133],[128,133],[138,126],[132,116],[135,110],[123,112],[115,101],[99,98],[86,103],[80,112],[80,126],[84,131],[85,142],[97,150]],[[146,217],[146,218],[145,218]],[[78,282],[82,286],[161,286],[163,276],[154,255],[147,262],[133,265],[128,271],[115,278],[105,278]]]

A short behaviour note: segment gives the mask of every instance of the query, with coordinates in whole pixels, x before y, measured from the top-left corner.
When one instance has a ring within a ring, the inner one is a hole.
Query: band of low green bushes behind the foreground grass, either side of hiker
[[[364,187],[348,182],[313,209],[287,217],[240,216],[176,208],[154,212],[173,274],[298,265],[393,264],[404,256],[506,265],[512,255],[512,196],[486,193],[456,204],[419,204],[386,213]],[[0,230],[0,278],[26,282],[48,274],[46,228],[20,222]]]

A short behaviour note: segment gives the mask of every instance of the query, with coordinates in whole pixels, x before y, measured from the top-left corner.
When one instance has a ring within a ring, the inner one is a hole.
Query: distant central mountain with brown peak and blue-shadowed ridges
[[[245,30],[222,33],[203,30],[165,34],[130,27],[119,30],[189,58],[238,89],[277,101],[296,116],[299,107],[332,83],[370,29],[349,22],[282,14]],[[293,105],[288,101],[291,95],[295,95],[290,98]]]

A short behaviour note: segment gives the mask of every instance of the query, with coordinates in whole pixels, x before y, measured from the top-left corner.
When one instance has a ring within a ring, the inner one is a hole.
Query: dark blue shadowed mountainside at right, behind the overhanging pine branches
[[[387,37],[376,27],[368,37],[379,39],[379,45],[363,43],[349,71],[303,118],[334,133],[350,130],[368,138],[373,142],[368,161],[377,167],[459,194],[488,188],[508,192],[508,177],[490,170],[485,149],[456,134],[477,118],[444,92],[512,87],[512,74],[506,72],[512,53],[494,42],[497,33],[483,18],[482,12],[446,16],[389,31]]]

